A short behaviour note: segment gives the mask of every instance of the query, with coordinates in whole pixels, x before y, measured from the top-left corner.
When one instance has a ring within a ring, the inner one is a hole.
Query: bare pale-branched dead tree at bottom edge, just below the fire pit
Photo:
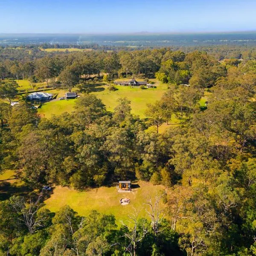
[[[131,254],[131,256],[136,256],[136,248],[137,245],[144,239],[146,234],[148,233],[148,228],[146,225],[146,220],[141,220],[139,222],[138,213],[136,209],[134,209],[134,213],[129,215],[129,220],[127,221],[129,224],[124,224],[121,221],[122,225],[128,229],[128,232],[124,234],[123,237],[126,237],[129,241],[128,246],[125,245],[125,251]],[[140,230],[139,230],[140,227]]]

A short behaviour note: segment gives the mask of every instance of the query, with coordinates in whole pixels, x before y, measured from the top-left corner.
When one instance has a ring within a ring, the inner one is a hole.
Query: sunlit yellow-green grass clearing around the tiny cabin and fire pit
[[[134,208],[142,209],[145,207],[146,200],[157,194],[160,195],[164,189],[163,186],[154,186],[145,181],[139,181],[137,184],[140,187],[135,188],[131,193],[118,193],[115,186],[103,186],[82,192],[68,187],[56,186],[44,204],[52,212],[56,212],[61,206],[67,204],[79,215],[87,215],[93,209],[106,214],[112,213],[119,223],[120,220],[128,219],[128,215],[133,212]],[[120,205],[119,200],[121,198],[129,198],[130,204]],[[145,216],[145,211],[142,211],[140,216]]]

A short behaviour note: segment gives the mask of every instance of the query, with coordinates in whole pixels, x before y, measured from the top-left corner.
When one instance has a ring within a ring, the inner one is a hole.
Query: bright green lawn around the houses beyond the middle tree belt
[[[129,80],[129,79],[118,79],[118,80]],[[137,79],[138,81],[142,79]],[[104,83],[97,84],[89,84],[87,86],[87,90],[90,93],[96,95],[99,99],[102,99],[102,102],[106,105],[108,111],[113,111],[116,107],[117,99],[122,97],[127,97],[131,101],[131,110],[133,114],[139,115],[140,118],[145,118],[145,110],[147,108],[148,103],[154,103],[159,100],[163,93],[167,91],[167,85],[163,84],[156,79],[151,79],[151,81],[156,82],[157,88],[148,88],[148,89],[140,89],[140,88],[131,88],[130,86],[119,86],[115,87],[118,89],[116,91],[109,91],[108,85],[104,85]],[[76,88],[73,89],[76,91]],[[49,93],[58,93],[58,97],[64,96],[65,90],[50,90]],[[204,107],[205,102],[207,101],[207,97],[209,96],[209,92],[205,92],[205,96],[202,97],[199,101],[200,106]],[[61,101],[52,101],[46,102],[42,105],[40,109],[38,109],[38,113],[41,116],[45,116],[47,118],[51,117],[52,114],[59,115],[64,112],[71,113],[74,111],[74,105],[76,100],[61,100]],[[175,124],[179,124],[180,120],[173,116],[171,122],[172,125],[163,124],[160,126],[159,131],[163,132],[167,127],[172,127]],[[154,129],[154,127],[152,128]]]

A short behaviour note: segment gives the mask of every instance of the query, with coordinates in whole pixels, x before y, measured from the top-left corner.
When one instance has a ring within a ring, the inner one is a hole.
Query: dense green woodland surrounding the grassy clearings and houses
[[[63,207],[53,217],[41,208],[43,195],[29,202],[12,197],[0,204],[3,255],[256,255],[256,61],[219,63],[203,52],[161,51],[139,51],[143,69],[136,72],[159,68],[175,79],[187,70],[190,87],[170,80],[163,97],[148,105],[148,120],[131,114],[126,98],[108,112],[86,93],[73,113],[50,119],[40,118],[27,102],[12,108],[1,102],[0,166],[21,170],[35,188],[55,183],[82,189],[134,178],[162,184],[166,218],[151,201],[150,221],[135,214],[117,229],[112,215],[81,217]],[[93,63],[102,63],[108,73],[113,67],[113,73],[137,68],[124,61],[135,52],[90,54],[95,59],[63,55],[68,66],[61,66],[59,55],[41,58],[35,74],[38,67],[47,73],[43,67],[51,63],[54,76],[68,77],[67,70],[87,67],[79,60],[92,61],[88,67],[96,73],[100,69]],[[0,92],[8,88],[3,82]],[[201,111],[196,104],[208,85],[211,95]],[[172,115],[186,117],[186,123],[161,134],[147,129]]]

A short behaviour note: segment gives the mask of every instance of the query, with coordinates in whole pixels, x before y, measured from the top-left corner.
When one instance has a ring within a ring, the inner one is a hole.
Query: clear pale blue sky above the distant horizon
[[[0,0],[0,33],[256,30],[256,0]]]

